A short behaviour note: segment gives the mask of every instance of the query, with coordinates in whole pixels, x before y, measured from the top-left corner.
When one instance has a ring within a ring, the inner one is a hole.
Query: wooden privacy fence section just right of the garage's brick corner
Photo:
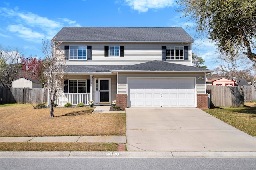
[[[216,107],[244,107],[243,86],[206,86],[210,94],[210,106]]]

